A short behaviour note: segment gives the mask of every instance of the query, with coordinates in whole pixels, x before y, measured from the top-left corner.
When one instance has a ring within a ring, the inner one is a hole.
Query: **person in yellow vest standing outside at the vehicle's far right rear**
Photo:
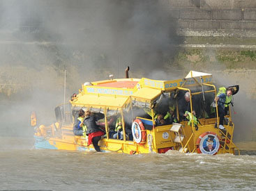
[[[220,117],[220,125],[218,128],[220,128],[221,130],[225,129],[225,127],[223,126],[223,119],[225,116],[225,108],[229,103],[231,103],[232,101],[232,94],[234,93],[234,89],[233,88],[219,88],[217,97],[214,99],[214,101],[218,101],[218,115]]]

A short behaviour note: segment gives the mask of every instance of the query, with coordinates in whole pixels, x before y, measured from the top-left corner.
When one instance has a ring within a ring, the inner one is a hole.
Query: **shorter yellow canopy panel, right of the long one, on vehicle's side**
[[[153,100],[161,94],[161,90],[153,88],[142,88],[137,90],[134,94],[131,95],[132,98],[140,98],[144,100]]]

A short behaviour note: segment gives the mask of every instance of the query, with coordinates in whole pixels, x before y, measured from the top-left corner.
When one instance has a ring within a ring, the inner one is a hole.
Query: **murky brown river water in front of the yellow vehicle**
[[[36,150],[32,140],[0,143],[0,190],[256,190],[255,155],[84,153]]]

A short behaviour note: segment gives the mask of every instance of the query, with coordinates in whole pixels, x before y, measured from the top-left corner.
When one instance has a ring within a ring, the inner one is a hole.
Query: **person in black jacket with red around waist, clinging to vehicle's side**
[[[100,152],[100,147],[98,142],[101,139],[101,136],[104,135],[104,132],[96,124],[96,117],[91,115],[90,110],[86,110],[84,125],[86,126],[86,135],[88,136],[88,146],[93,143],[93,147],[97,152]]]

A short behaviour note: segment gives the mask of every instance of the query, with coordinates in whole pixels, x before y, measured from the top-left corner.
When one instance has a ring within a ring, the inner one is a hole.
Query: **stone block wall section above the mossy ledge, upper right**
[[[255,0],[170,0],[170,13],[178,20],[181,35],[220,31],[215,35],[256,37]]]

